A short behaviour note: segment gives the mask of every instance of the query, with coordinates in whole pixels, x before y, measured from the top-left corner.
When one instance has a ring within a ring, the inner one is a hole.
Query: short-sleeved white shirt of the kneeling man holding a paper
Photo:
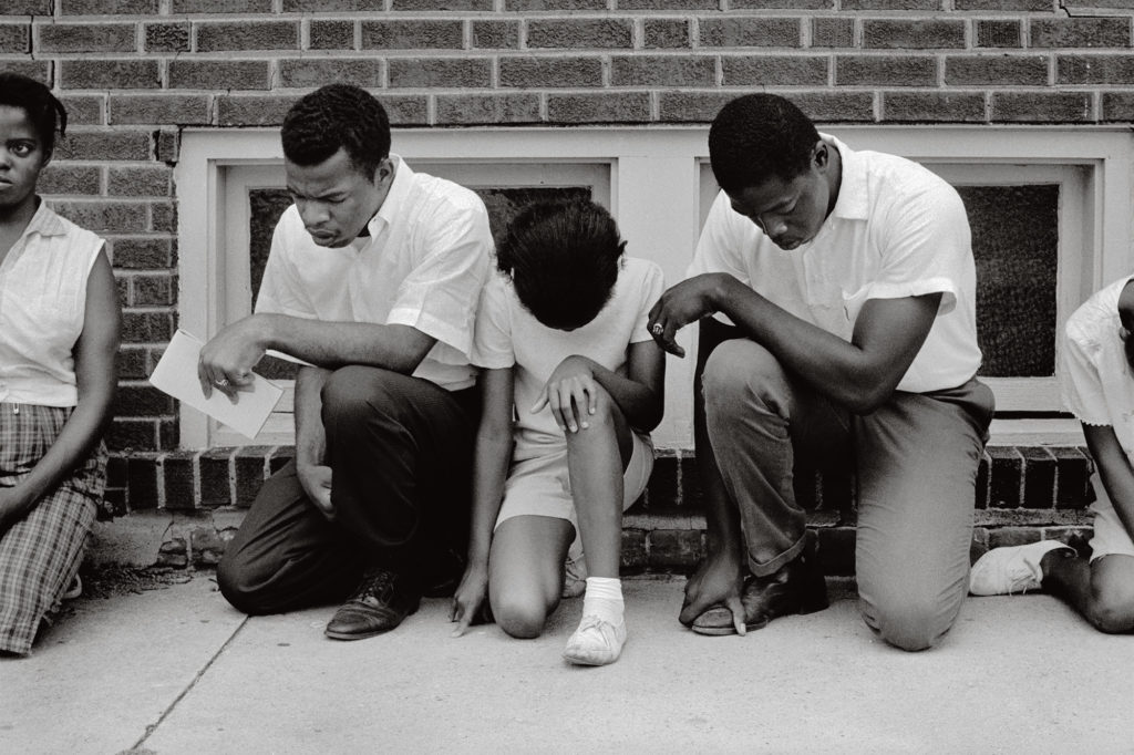
[[[256,312],[416,328],[437,343],[414,376],[468,388],[476,379],[473,321],[493,248],[488,212],[469,189],[390,158],[397,171],[369,240],[322,247],[295,205],[284,212]]]

